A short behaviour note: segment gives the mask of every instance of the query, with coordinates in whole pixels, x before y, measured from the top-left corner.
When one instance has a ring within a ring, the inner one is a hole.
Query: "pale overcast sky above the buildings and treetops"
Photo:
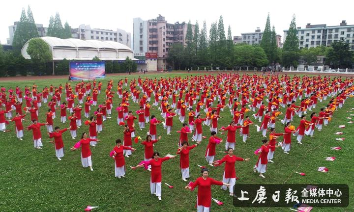
[[[289,2],[292,2],[289,4]],[[161,14],[168,23],[197,20],[200,27],[223,16],[225,32],[230,25],[232,35],[253,32],[256,27],[263,31],[267,13],[270,25],[277,34],[289,28],[292,15],[296,15],[296,26],[304,28],[307,23],[339,25],[342,20],[354,25],[354,1],[315,0],[6,0],[1,2],[0,42],[9,37],[8,26],[19,21],[21,10],[30,5],[36,24],[48,27],[49,18],[59,12],[62,24],[67,21],[72,28],[80,24],[91,28],[124,29],[133,32],[133,18],[153,19]]]

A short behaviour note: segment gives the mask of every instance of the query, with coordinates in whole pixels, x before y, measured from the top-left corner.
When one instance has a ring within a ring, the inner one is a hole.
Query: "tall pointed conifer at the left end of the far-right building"
[[[283,66],[297,66],[299,57],[299,40],[295,23],[295,14],[290,23],[287,37],[283,45],[282,64]]]

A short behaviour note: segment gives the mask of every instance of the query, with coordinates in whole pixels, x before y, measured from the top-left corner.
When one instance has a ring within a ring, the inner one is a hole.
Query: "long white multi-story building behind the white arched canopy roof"
[[[131,48],[131,34],[122,29],[117,31],[111,29],[91,28],[89,25],[80,25],[71,29],[73,38],[81,40],[115,41]]]

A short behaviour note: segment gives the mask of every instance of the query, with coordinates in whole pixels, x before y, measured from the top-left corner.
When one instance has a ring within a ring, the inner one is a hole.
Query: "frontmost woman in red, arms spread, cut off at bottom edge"
[[[230,186],[231,184],[226,184],[221,181],[214,180],[209,177],[209,170],[207,168],[202,169],[202,177],[197,178],[197,180],[191,185],[187,185],[184,188],[187,190],[194,189],[198,186],[197,194],[197,211],[198,212],[209,212],[211,206],[211,185],[225,185]]]

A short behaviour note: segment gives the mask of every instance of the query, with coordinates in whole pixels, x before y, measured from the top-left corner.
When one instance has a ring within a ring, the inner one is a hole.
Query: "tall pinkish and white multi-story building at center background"
[[[165,17],[143,21],[133,19],[134,53],[157,53],[157,69],[166,69],[166,58],[173,43],[186,45],[185,36],[188,24],[185,22],[169,24]],[[194,34],[194,25],[192,31]]]

